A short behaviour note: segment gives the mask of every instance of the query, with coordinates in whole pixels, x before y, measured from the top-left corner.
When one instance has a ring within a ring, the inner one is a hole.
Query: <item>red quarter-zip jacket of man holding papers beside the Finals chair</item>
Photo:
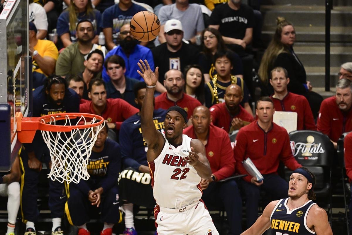
[[[301,167],[292,155],[287,131],[275,123],[272,123],[272,128],[266,133],[257,121],[244,126],[237,134],[233,151],[239,174],[248,174],[242,164],[247,157],[262,174],[276,173],[279,160],[291,170]],[[250,175],[244,177],[248,182],[251,178]]]

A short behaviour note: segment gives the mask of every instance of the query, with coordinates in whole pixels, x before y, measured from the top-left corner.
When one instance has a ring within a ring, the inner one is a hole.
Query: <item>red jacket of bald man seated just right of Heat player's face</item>
[[[197,138],[193,126],[184,129],[183,134],[193,139]],[[208,136],[205,152],[212,173],[218,180],[230,177],[235,171],[235,159],[227,132],[210,124]]]

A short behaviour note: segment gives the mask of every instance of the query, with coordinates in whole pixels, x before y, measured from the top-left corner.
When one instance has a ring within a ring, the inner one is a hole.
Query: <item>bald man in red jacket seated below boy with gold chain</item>
[[[215,126],[231,133],[254,121],[253,116],[240,105],[243,95],[239,85],[228,86],[224,99],[225,103],[215,104],[209,109]]]

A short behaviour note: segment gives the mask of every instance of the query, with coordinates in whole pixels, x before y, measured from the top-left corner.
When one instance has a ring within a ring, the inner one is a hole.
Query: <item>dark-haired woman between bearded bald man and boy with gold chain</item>
[[[202,68],[198,64],[189,64],[184,68],[183,74],[186,77],[186,85],[184,86],[186,94],[199,100],[201,104],[205,104],[205,82]]]

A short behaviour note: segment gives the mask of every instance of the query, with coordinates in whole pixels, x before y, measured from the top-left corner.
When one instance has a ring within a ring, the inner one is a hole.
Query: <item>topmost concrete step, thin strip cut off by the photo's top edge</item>
[[[325,6],[324,0],[262,0],[262,5],[319,5]],[[333,0],[333,6],[352,6],[352,0]]]

